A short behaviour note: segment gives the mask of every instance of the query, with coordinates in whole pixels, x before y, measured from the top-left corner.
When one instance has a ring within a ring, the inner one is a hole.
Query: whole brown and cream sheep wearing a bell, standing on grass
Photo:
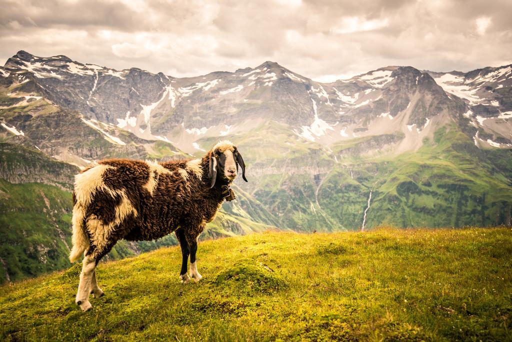
[[[75,303],[87,311],[92,307],[89,294],[103,295],[95,269],[119,239],[153,240],[175,232],[182,253],[180,280],[199,281],[198,236],[224,199],[234,199],[230,184],[239,166],[247,182],[242,155],[223,140],[200,159],[106,159],[77,174],[69,258],[74,263],[84,257]]]

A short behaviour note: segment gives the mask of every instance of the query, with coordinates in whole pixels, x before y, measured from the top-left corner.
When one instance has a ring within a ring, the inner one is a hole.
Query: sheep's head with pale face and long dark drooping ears
[[[211,149],[209,166],[211,179],[210,188],[215,186],[218,176],[227,179],[228,183],[231,183],[234,178],[237,177],[239,166],[242,169],[242,178],[247,182],[247,178],[245,178],[244,159],[237,147],[228,140],[217,143],[217,145]]]

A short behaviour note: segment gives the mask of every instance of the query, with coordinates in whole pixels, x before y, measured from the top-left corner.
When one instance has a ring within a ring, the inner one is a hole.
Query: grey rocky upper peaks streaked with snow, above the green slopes
[[[207,148],[201,139],[244,134],[268,121],[326,147],[401,132],[406,138],[400,150],[417,149],[436,127],[462,114],[476,128],[478,146],[507,147],[511,138],[510,67],[466,74],[386,67],[322,84],[273,62],[175,78],[20,51],[0,70],[20,83],[31,78],[51,102],[80,112],[84,120],[163,140],[187,153]]]

